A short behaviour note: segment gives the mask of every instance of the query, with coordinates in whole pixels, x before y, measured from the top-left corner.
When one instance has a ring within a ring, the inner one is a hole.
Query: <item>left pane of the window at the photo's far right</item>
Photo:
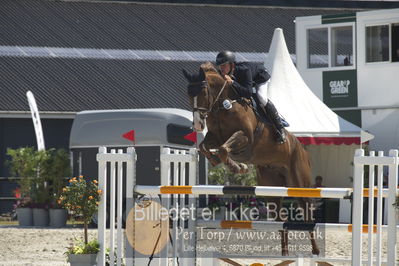
[[[366,27],[366,62],[389,60],[389,25]]]

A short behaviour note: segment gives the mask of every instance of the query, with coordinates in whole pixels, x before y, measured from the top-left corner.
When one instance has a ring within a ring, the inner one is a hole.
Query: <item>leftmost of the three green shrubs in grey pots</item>
[[[10,168],[10,173],[19,177],[17,179],[18,189],[15,191],[17,203],[15,211],[18,223],[21,226],[33,225],[32,218],[32,188],[34,186],[34,176],[36,174],[36,152],[33,147],[18,149],[7,149],[10,160],[6,164]]]

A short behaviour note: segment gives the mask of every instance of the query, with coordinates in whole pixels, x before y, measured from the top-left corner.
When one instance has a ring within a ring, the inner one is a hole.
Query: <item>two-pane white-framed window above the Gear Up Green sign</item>
[[[308,68],[353,66],[353,24],[308,29]]]

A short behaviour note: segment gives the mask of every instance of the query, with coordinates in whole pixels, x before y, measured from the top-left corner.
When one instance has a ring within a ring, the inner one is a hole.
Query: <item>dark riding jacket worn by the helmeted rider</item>
[[[233,72],[233,89],[244,98],[251,98],[252,88],[270,79],[263,64],[253,62],[236,63]]]

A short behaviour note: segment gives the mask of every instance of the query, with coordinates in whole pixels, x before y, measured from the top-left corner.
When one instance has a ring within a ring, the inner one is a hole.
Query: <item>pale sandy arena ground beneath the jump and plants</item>
[[[69,265],[66,262],[64,252],[74,238],[82,237],[82,235],[82,228],[48,229],[0,226],[0,265]],[[89,235],[91,239],[97,237],[97,230],[89,229]],[[383,234],[383,241],[385,239],[386,233]],[[367,245],[366,235],[365,245]],[[351,234],[328,230],[326,233],[326,250],[326,257],[349,257],[351,254]],[[383,251],[386,251],[386,244],[383,244]],[[243,265],[254,262],[274,265],[278,262],[273,261],[275,262],[273,264],[264,259],[235,260]],[[229,264],[221,263],[220,265]],[[306,260],[305,265],[307,265]],[[350,265],[350,263],[334,263],[334,265]]]

